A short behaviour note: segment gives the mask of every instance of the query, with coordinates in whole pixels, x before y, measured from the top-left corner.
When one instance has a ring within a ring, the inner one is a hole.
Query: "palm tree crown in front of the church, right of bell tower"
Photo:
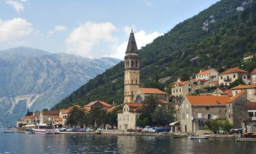
[[[159,97],[152,94],[145,97],[145,100],[142,101],[142,108],[149,114],[153,113],[156,110],[156,108],[159,107],[159,105]]]

